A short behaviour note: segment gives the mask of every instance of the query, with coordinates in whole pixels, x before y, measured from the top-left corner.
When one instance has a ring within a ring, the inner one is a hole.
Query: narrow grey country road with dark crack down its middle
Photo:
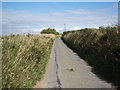
[[[58,38],[44,78],[35,88],[111,88],[111,85],[97,77],[92,68]]]

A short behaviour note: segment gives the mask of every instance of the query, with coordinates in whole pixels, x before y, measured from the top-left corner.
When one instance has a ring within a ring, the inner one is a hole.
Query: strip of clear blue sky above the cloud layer
[[[11,10],[25,10],[33,13],[45,13],[49,11],[64,11],[64,10],[74,10],[78,8],[89,9],[89,10],[99,10],[104,8],[111,8],[115,3],[113,2],[16,2],[16,3],[3,3],[3,9]]]

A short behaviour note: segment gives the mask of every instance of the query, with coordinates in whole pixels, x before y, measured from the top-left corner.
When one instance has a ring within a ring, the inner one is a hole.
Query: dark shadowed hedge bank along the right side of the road
[[[120,30],[117,26],[64,32],[63,41],[110,82],[120,87]]]

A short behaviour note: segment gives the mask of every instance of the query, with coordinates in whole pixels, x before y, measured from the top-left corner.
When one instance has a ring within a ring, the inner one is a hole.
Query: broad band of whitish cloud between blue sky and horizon
[[[117,23],[118,14],[107,14],[107,10],[109,9],[98,11],[77,9],[45,14],[3,10],[3,33],[8,31],[37,33],[48,27],[61,32],[64,31],[64,23],[67,29],[71,30]]]

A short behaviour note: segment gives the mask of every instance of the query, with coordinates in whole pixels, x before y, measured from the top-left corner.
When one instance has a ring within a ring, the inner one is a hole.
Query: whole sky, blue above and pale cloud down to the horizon
[[[66,30],[118,22],[117,2],[3,2],[2,34],[39,34],[46,28]]]

